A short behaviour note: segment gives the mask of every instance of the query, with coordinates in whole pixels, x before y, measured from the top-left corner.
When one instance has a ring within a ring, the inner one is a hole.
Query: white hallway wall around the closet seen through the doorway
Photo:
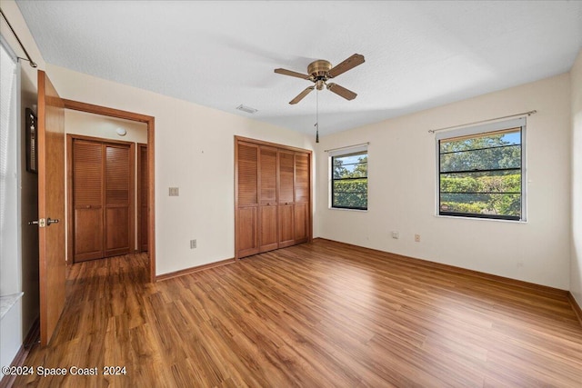
[[[125,129],[126,134],[120,136],[116,133],[117,128]],[[112,139],[130,143],[147,144],[147,124],[136,121],[124,120],[116,117],[108,117],[101,114],[89,114],[86,112],[73,111],[65,109],[65,134],[83,134],[85,136],[99,137],[101,139]],[[135,147],[135,169],[137,169],[137,147]],[[65,160],[66,150],[65,150]],[[65,165],[65,176],[67,165]],[[134,182],[134,204],[137,206],[137,174],[135,172]],[[68,198],[68,183],[65,181],[65,203]],[[135,208],[134,220],[134,234],[135,246],[137,249],[137,208]],[[65,219],[68,220],[68,209],[65,206]],[[66,224],[68,230],[69,224]],[[68,239],[68,234],[65,234],[65,239]],[[68,244],[65,244],[68,249]],[[68,254],[67,254],[68,257]]]

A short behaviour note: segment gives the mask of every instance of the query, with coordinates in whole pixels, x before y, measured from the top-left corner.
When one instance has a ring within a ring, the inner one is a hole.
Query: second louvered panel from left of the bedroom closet
[[[279,246],[277,235],[276,154],[276,148],[260,147],[260,252],[271,251]]]

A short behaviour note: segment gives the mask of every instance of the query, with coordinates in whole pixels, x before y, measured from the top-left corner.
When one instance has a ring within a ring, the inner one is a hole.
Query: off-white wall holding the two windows
[[[324,137],[317,147],[320,236],[568,289],[569,82],[558,75]],[[437,217],[435,136],[427,131],[534,109],[527,118],[527,223]],[[323,150],[364,142],[368,211],[329,209]]]

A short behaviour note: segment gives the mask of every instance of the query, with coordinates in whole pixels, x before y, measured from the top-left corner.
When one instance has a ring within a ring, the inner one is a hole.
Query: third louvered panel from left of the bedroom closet
[[[279,150],[279,248],[295,244],[295,153]]]

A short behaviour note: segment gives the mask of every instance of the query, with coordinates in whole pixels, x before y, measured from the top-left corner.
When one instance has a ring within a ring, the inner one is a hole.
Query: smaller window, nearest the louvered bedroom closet
[[[331,207],[367,210],[367,146],[330,152]]]

